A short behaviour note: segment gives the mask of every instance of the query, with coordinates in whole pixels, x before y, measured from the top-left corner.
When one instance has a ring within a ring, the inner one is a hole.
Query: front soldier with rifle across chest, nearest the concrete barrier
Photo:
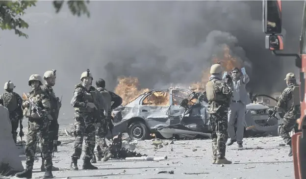
[[[50,99],[42,89],[42,77],[34,74],[28,80],[32,91],[23,95],[24,116],[28,118],[28,132],[26,135],[26,169],[17,173],[18,178],[32,178],[36,142],[39,140],[41,151],[45,158],[45,175],[43,179],[52,179],[52,156],[49,150],[49,121]]]

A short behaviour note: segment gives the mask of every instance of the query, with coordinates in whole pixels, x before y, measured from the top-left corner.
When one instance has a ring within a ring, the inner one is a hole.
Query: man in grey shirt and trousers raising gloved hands
[[[230,141],[227,144],[228,146],[232,145],[234,142],[237,142],[238,147],[242,148],[242,140],[244,133],[244,120],[245,120],[245,111],[246,105],[248,103],[248,94],[246,91],[246,84],[250,81],[249,76],[247,75],[245,68],[241,69],[241,72],[238,68],[232,69],[232,90],[233,97],[229,107],[229,138]],[[243,77],[241,77],[241,73]],[[223,79],[226,79],[227,72],[224,73]],[[234,124],[237,118],[237,131],[235,132]]]

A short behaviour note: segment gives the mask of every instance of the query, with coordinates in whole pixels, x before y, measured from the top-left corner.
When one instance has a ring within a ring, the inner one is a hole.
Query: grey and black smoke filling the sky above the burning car
[[[56,69],[54,90],[63,94],[62,118],[72,121],[74,85],[87,68],[113,90],[119,76],[138,77],[141,87],[201,79],[212,55],[227,44],[246,64],[255,93],[284,87],[294,58],[265,49],[261,1],[91,1],[91,17],[74,17],[65,7],[38,1],[25,20],[29,38],[0,31],[0,84],[11,80],[28,92],[28,77]],[[282,1],[285,49],[298,52],[302,1]],[[251,64],[251,65],[247,65]]]

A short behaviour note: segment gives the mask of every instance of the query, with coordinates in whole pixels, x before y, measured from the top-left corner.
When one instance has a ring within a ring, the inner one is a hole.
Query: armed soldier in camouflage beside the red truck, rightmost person
[[[285,111],[283,122],[280,127],[280,137],[284,140],[285,144],[290,146],[288,155],[292,156],[291,137],[289,133],[293,128],[297,130],[298,124],[296,120],[301,116],[300,91],[299,85],[296,83],[296,77],[293,73],[288,73],[285,80],[287,87],[280,94],[279,101],[274,107],[274,110],[281,108]],[[273,111],[269,110],[269,113],[272,114]]]

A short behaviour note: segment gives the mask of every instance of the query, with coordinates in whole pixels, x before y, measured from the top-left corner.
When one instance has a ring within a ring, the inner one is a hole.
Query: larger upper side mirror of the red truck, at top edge
[[[281,1],[263,0],[262,11],[264,33],[281,33]]]

